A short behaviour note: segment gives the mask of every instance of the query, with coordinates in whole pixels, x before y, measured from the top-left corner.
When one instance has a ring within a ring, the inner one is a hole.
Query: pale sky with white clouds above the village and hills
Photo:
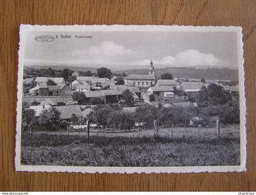
[[[51,35],[51,42],[35,37]],[[69,35],[71,38],[60,38]],[[74,38],[91,35],[92,38]],[[27,32],[24,65],[238,68],[235,32]]]

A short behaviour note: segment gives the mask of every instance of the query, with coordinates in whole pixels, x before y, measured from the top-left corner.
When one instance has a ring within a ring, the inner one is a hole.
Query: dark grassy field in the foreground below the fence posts
[[[239,165],[239,137],[104,137],[23,133],[21,164],[62,166]]]

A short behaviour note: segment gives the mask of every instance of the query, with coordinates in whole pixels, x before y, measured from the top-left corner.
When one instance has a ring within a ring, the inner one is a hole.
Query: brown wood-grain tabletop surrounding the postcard
[[[0,0],[1,191],[256,191],[256,1]],[[15,172],[15,116],[20,24],[180,24],[242,26],[246,73],[247,172],[80,174]]]

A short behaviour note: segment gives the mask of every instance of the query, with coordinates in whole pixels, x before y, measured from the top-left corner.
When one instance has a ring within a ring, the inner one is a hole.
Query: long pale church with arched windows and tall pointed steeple
[[[149,67],[149,74],[130,74],[124,78],[124,85],[138,86],[138,87],[150,87],[155,85],[155,69],[151,60]]]

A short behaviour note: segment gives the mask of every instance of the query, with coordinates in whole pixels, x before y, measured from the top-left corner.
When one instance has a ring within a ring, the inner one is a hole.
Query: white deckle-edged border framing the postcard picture
[[[168,32],[236,32],[238,49],[238,74],[240,86],[240,166],[172,166],[172,167],[98,167],[98,166],[31,166],[21,165],[21,109],[23,93],[23,63],[24,46],[26,40],[24,34],[27,31],[168,31]],[[73,26],[20,26],[20,49],[18,64],[18,92],[16,107],[16,148],[15,170],[16,171],[46,171],[46,172],[119,172],[119,173],[171,173],[171,172],[241,172],[246,171],[246,101],[244,93],[244,68],[243,68],[243,41],[242,28],[235,26],[156,26],[156,25],[73,25]]]

